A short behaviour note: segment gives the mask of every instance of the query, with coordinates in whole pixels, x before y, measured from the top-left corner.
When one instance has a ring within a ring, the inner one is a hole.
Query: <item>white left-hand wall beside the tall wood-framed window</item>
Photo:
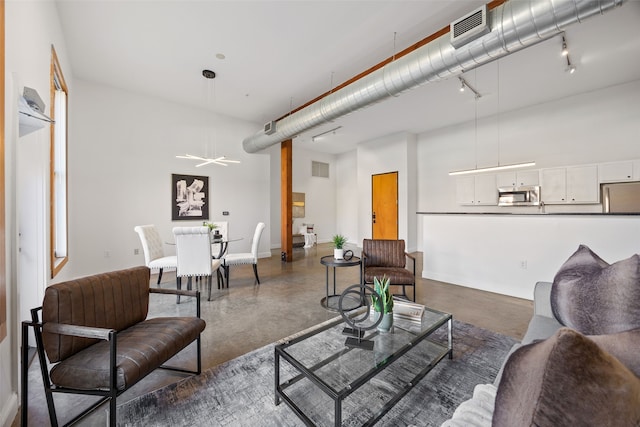
[[[22,308],[42,294],[48,271],[48,126],[18,136],[17,98],[23,86],[38,91],[49,111],[51,46],[63,70],[70,70],[54,2],[5,2],[5,203],[7,230],[8,336],[0,343],[0,425],[18,408]],[[73,90],[73,76],[65,75]],[[46,168],[43,170],[43,166]],[[20,238],[21,235],[21,238]],[[21,252],[18,252],[18,248]],[[21,265],[21,268],[18,266]],[[32,304],[36,306],[38,303]]]

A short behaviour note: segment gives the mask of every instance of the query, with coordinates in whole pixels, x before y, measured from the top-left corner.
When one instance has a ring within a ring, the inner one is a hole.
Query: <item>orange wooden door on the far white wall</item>
[[[398,172],[371,175],[371,222],[374,239],[398,238]]]

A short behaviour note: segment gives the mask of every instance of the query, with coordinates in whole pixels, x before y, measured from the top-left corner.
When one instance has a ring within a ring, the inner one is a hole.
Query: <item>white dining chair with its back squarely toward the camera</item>
[[[211,237],[209,227],[174,227],[173,235],[176,240],[176,286],[182,289],[182,278],[186,277],[187,289],[191,289],[191,280],[206,279],[208,286],[207,300],[211,301],[211,282],[216,273],[218,288],[220,288],[220,266],[222,261],[211,256]],[[223,279],[222,279],[223,280]],[[180,297],[178,296],[178,302]]]

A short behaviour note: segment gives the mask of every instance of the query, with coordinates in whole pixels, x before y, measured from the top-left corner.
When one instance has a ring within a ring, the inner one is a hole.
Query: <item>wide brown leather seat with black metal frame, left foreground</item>
[[[23,426],[28,421],[28,334],[32,327],[49,419],[58,425],[53,393],[102,396],[68,424],[109,401],[109,425],[116,425],[116,398],[156,368],[199,374],[200,293],[150,288],[148,267],[102,273],[49,286],[42,307],[22,322]],[[147,319],[149,294],[196,298],[196,315]],[[42,311],[42,321],[38,312]],[[197,369],[163,364],[197,341]],[[45,354],[46,353],[46,354]]]

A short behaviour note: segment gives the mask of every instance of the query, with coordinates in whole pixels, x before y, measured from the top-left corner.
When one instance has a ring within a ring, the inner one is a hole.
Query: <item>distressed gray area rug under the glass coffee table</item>
[[[456,320],[453,323],[453,338],[453,360],[442,360],[377,425],[439,426],[451,417],[461,402],[471,397],[476,384],[493,382],[504,357],[517,342],[513,338]],[[201,375],[185,378],[133,399],[119,406],[118,424],[175,427],[302,426],[304,423],[285,403],[278,406],[274,404],[273,348],[273,344],[259,348],[206,370]],[[402,366],[398,365],[398,368],[402,369]],[[354,393],[349,398],[352,400],[349,405],[359,407],[372,398],[377,399],[384,394],[381,389],[385,387],[388,384],[381,386],[373,382],[364,395]],[[310,397],[307,395],[305,398]],[[321,393],[311,397],[314,402],[321,402],[322,399]],[[323,414],[326,419],[319,419],[318,425],[333,425],[332,414],[333,406],[329,400]],[[360,425],[363,416],[367,414],[362,411],[346,414],[343,425]]]

